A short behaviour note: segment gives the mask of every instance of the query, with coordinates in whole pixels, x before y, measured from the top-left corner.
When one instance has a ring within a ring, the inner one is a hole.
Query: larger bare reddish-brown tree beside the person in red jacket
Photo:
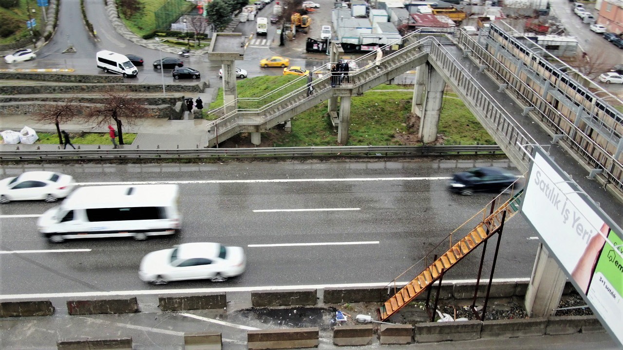
[[[107,91],[100,93],[102,105],[88,110],[86,118],[95,127],[110,125],[110,119],[115,121],[119,133],[119,144],[123,143],[123,123],[135,125],[142,118],[150,118],[151,112],[141,105],[140,100],[131,98],[129,92]]]

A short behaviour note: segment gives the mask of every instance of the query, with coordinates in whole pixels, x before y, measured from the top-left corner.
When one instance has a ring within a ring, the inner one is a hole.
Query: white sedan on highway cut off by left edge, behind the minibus
[[[52,171],[27,171],[0,181],[0,203],[43,199],[55,202],[74,189],[74,177]]]

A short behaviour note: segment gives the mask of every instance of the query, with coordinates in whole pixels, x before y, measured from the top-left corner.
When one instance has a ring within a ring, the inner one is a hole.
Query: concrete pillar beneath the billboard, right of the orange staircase
[[[563,295],[567,276],[558,263],[549,256],[548,250],[539,244],[535,267],[532,269],[530,284],[526,291],[524,306],[529,317],[548,317],[554,315],[560,297]]]

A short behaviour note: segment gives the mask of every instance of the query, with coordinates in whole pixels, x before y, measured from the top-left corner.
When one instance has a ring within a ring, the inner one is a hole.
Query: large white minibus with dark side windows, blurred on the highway
[[[80,187],[47,210],[37,228],[50,242],[65,239],[173,235],[181,229],[178,185]]]

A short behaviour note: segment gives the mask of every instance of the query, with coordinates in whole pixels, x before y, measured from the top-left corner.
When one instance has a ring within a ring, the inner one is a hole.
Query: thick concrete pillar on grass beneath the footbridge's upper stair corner
[[[422,65],[418,70],[427,70],[426,100],[424,100],[424,113],[420,119],[420,140],[429,143],[437,140],[437,127],[439,126],[439,115],[441,113],[441,103],[444,100],[445,80],[432,65]]]

